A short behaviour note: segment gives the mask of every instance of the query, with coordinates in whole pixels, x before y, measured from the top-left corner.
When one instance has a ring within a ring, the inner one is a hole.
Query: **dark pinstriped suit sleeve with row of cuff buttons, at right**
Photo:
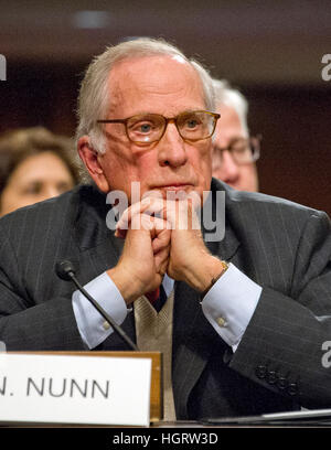
[[[331,340],[331,227],[310,215],[297,248],[291,292],[263,287],[229,366],[307,408],[331,407],[331,369],[323,363]]]

